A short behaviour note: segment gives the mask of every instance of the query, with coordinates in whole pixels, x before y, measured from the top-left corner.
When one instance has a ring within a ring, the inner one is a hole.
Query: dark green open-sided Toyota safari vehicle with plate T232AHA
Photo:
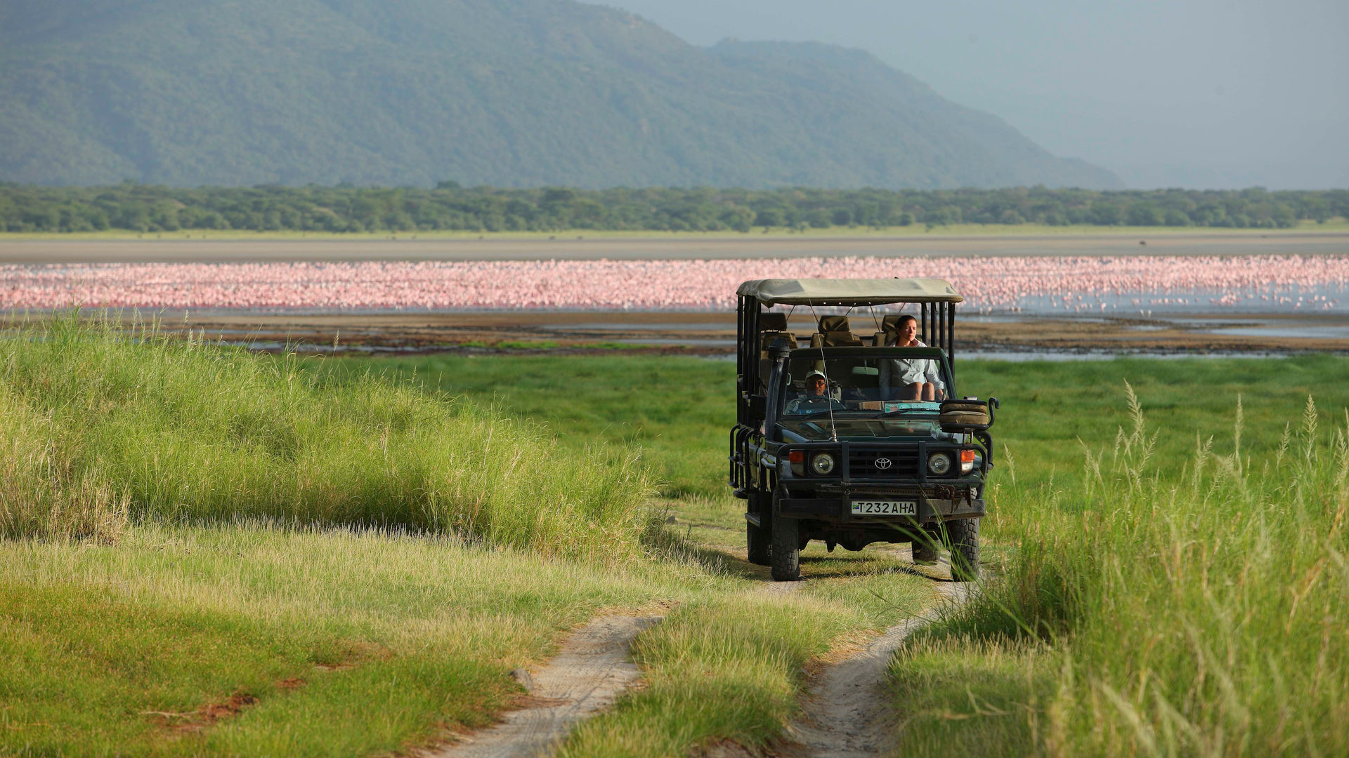
[[[955,289],[940,279],[755,279],[737,294],[730,484],[746,502],[749,560],[793,581],[811,540],[831,552],[911,542],[920,562],[944,544],[952,575],[973,577],[998,402],[956,395]],[[931,347],[894,347],[908,309],[882,316],[877,306],[897,303],[916,306],[916,336]],[[816,314],[827,306],[849,310]],[[870,313],[854,314],[859,308]],[[804,339],[788,328],[803,309],[816,326]],[[859,322],[876,330],[858,336]]]

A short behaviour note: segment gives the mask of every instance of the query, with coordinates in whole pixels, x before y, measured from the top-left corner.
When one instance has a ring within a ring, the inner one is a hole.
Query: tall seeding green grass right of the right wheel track
[[[1130,398],[1074,482],[1006,482],[1006,575],[894,661],[905,754],[1349,751],[1349,415],[1280,401],[1178,456]]]

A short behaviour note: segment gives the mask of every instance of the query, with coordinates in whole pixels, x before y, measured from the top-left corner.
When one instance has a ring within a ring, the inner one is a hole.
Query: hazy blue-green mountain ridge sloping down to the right
[[[9,0],[0,181],[1120,187],[870,54],[572,0]]]

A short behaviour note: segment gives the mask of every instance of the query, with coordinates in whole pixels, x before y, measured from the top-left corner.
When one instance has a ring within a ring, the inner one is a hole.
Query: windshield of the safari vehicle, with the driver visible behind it
[[[885,353],[793,352],[782,382],[781,421],[830,413],[850,417],[936,413],[951,386],[946,361],[919,357],[902,348]]]

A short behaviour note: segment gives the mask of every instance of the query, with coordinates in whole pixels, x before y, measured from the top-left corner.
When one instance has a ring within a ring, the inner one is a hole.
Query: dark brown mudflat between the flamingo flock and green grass
[[[138,314],[121,312],[131,322]],[[40,320],[46,314],[11,314]],[[734,313],[691,312],[494,312],[494,313],[256,313],[243,310],[163,310],[159,329],[192,329],[210,340],[301,352],[625,352],[735,353]],[[870,336],[867,317],[854,329]],[[792,318],[803,339],[815,330],[808,314]],[[1349,352],[1349,316],[1344,314],[1193,314],[1184,317],[997,317],[966,318],[956,325],[956,355],[970,351],[1017,353]]]

